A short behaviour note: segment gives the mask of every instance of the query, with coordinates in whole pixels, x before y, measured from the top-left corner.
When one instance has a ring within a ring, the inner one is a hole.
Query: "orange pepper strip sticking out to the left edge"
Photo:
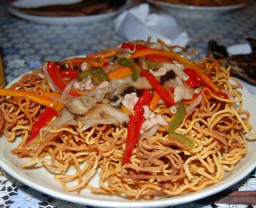
[[[0,89],[0,95],[3,96],[13,96],[13,97],[25,97],[30,101],[37,102],[44,107],[52,107],[56,111],[60,111],[63,105],[57,101],[53,101],[43,95],[37,95],[32,92],[23,90],[10,90],[10,89]]]

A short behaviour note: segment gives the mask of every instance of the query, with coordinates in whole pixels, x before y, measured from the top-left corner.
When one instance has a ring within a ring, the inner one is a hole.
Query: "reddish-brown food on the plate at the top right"
[[[154,0],[154,2],[166,2],[166,3],[177,3],[189,6],[204,6],[204,7],[218,7],[218,6],[229,6],[241,3],[247,3],[247,0],[224,0],[224,1],[207,1],[207,0]]]

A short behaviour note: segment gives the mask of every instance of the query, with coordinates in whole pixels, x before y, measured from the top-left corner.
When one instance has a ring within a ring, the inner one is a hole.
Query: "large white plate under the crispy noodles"
[[[17,79],[14,80],[14,82]],[[241,90],[244,101],[244,108],[247,109],[251,115],[256,115],[256,100],[248,92],[247,89]],[[253,125],[253,130],[256,130],[256,119],[253,116],[250,120]],[[137,200],[131,201],[117,196],[91,194],[89,190],[83,190],[81,194],[67,193],[61,185],[54,181],[54,176],[50,174],[44,168],[24,170],[20,168],[20,164],[27,159],[20,159],[16,155],[10,153],[10,150],[17,147],[17,142],[7,142],[6,138],[2,136],[0,138],[0,165],[3,170],[6,170],[11,176],[14,176],[20,182],[25,183],[27,186],[37,189],[38,191],[49,194],[58,199],[64,199],[71,202],[83,204],[83,205],[95,205],[104,207],[162,207],[167,205],[180,205],[183,203],[189,203],[196,199],[203,199],[212,194],[216,194],[236,182],[241,181],[242,178],[247,176],[256,167],[256,142],[248,142],[247,155],[241,159],[235,170],[225,174],[224,180],[214,184],[210,187],[204,188],[201,191],[197,191],[190,194],[183,194],[177,197],[153,199],[153,200]],[[96,178],[91,182],[93,185],[97,185]]]

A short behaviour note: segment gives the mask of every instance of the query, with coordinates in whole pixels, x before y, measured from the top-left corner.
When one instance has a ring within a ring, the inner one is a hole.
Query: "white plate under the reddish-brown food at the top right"
[[[212,14],[222,14],[230,12],[231,10],[241,9],[246,6],[247,3],[240,3],[236,5],[229,6],[216,6],[216,7],[206,7],[206,6],[189,6],[178,3],[166,3],[154,0],[146,0],[148,3],[154,3],[160,9],[164,9],[172,14],[179,14],[182,16],[201,16],[203,14],[207,14],[207,16],[211,16]]]

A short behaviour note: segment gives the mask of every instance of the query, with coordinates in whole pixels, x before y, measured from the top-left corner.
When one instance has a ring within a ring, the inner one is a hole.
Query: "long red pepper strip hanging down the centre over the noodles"
[[[129,124],[128,124],[125,153],[123,156],[124,164],[131,163],[131,160],[130,160],[131,153],[135,148],[135,146],[137,145],[137,141],[140,135],[140,130],[144,121],[143,106],[149,106],[152,98],[153,98],[153,95],[150,92],[150,90],[148,89],[143,90],[143,95],[140,96],[135,107],[133,107],[133,111],[131,113]]]

